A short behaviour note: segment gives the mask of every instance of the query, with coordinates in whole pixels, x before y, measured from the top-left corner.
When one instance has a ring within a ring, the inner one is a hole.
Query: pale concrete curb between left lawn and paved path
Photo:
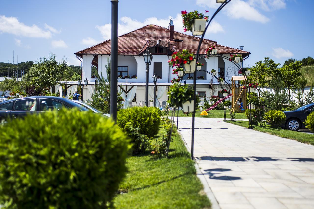
[[[184,138],[183,138],[183,136],[182,136],[180,130],[179,130],[179,129],[177,129],[177,130],[178,130],[178,134],[180,135],[181,139],[182,139],[183,142],[184,142],[185,147],[187,147],[187,150],[188,150],[189,152],[191,152],[191,150],[190,150],[190,148],[187,146],[187,142],[184,140]],[[209,199],[210,202],[211,202],[211,205],[212,205],[211,208],[212,208],[212,209],[221,209],[220,206],[219,206],[219,204],[218,204],[218,202],[217,202],[217,200],[216,200],[216,198],[215,198],[215,196],[214,196],[213,191],[210,189],[210,186],[208,185],[208,183],[207,183],[207,181],[206,181],[206,179],[205,179],[205,174],[202,173],[202,171],[201,171],[201,169],[200,169],[200,167],[199,167],[199,164],[196,162],[195,158],[194,158],[194,162],[195,162],[195,163],[194,163],[194,166],[195,166],[195,169],[196,169],[197,177],[199,178],[199,180],[200,180],[200,181],[202,182],[202,184],[203,184],[203,187],[204,187],[203,190],[204,190],[204,192],[206,193],[208,199]]]

